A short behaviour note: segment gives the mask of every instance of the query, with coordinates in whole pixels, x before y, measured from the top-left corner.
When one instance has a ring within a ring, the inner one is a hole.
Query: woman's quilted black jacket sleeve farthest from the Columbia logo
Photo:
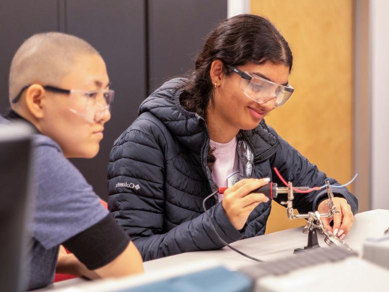
[[[275,133],[274,130],[272,131]],[[340,185],[335,179],[329,178],[324,172],[319,171],[316,165],[310,163],[284,139],[279,136],[278,139],[280,145],[271,160],[271,167],[276,167],[285,180],[291,181],[294,186],[322,186],[326,180],[329,180],[330,184]],[[273,181],[283,185],[275,174]],[[351,206],[353,214],[357,213],[358,200],[346,187],[333,188],[333,193],[335,196],[345,198]],[[318,204],[325,198],[327,198],[326,189],[308,194],[297,194],[294,206],[299,213],[316,211]]]

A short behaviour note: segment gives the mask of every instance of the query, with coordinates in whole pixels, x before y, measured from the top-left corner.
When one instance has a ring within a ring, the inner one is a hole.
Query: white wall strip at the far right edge
[[[389,209],[388,11],[389,1],[370,0],[372,209]]]

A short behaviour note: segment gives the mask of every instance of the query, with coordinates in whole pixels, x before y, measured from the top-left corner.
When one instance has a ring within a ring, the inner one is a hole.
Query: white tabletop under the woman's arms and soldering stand
[[[384,234],[389,226],[389,210],[372,210],[355,216],[355,222],[345,241],[362,256],[363,243],[367,238]],[[323,235],[319,234],[319,244],[325,247]],[[231,244],[234,248],[263,261],[284,258],[293,254],[294,249],[303,248],[307,244],[307,235],[302,233],[302,227],[275,232],[263,236],[237,241]],[[82,280],[75,279],[54,284],[54,289],[61,292],[98,292],[114,288],[132,287],[160,279],[166,279],[187,272],[197,271],[206,267],[223,265],[230,270],[255,264],[227,247],[216,251],[192,252],[144,263],[145,275],[128,277],[120,280],[101,280],[93,283],[80,284]],[[44,289],[52,290],[50,288]]]

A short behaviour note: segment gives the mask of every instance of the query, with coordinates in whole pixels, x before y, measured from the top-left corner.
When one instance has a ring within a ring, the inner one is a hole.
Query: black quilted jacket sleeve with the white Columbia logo
[[[164,168],[167,141],[159,126],[141,115],[114,143],[108,165],[108,207],[144,261],[223,247],[206,214],[166,230]],[[242,238],[220,203],[208,211],[227,243]]]

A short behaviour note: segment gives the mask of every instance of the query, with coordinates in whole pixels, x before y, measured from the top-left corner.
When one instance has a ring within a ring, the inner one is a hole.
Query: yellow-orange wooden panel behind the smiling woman
[[[341,183],[354,175],[353,9],[352,0],[251,0],[251,13],[269,18],[294,56],[295,92],[266,122]],[[273,207],[267,232],[304,224]]]

